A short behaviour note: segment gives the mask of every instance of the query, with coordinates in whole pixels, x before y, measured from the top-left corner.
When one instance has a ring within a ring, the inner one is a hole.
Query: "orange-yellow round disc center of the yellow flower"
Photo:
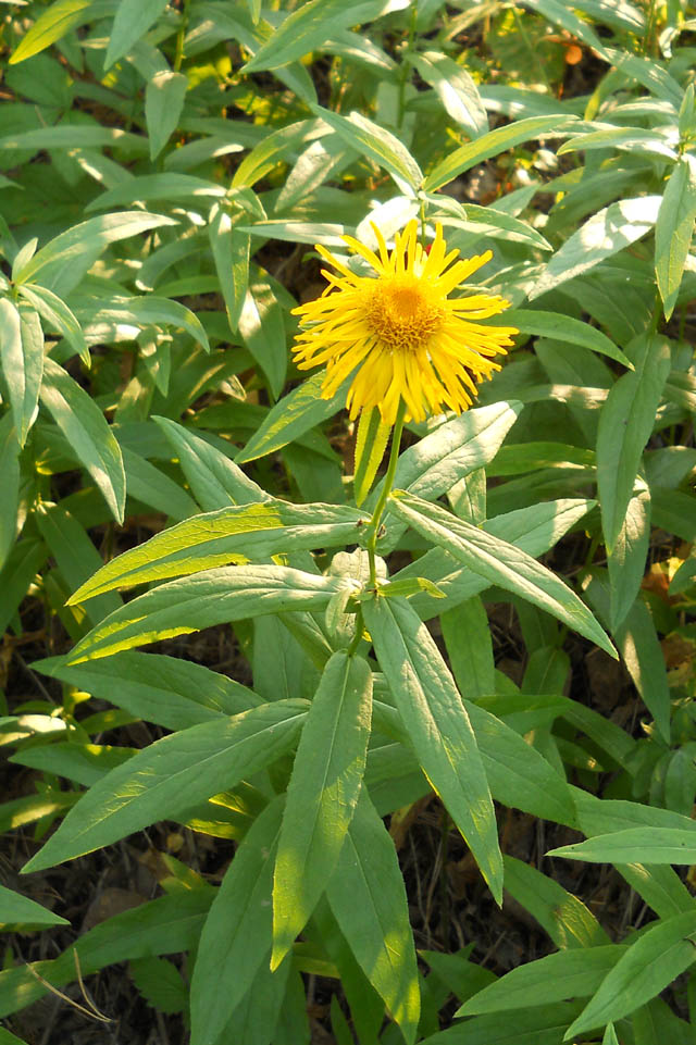
[[[437,333],[445,319],[437,291],[409,275],[375,283],[366,321],[381,341],[391,349],[418,349]]]

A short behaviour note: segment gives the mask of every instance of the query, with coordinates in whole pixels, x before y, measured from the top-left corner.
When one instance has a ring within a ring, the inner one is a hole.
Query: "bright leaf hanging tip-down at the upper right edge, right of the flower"
[[[655,226],[655,275],[666,320],[674,311],[695,219],[696,157],[684,152],[664,187]]]

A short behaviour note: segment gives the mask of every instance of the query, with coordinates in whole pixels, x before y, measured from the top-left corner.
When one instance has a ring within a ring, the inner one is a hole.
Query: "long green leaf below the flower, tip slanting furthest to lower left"
[[[234,787],[295,744],[307,709],[276,700],[156,741],[92,784],[23,871],[91,853]]]

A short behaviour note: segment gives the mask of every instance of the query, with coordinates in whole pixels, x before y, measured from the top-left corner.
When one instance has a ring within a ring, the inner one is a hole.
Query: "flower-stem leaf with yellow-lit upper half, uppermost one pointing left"
[[[187,519],[112,559],[75,592],[70,605],[113,588],[182,576],[228,562],[355,544],[362,522],[360,512],[340,505],[268,500],[221,508]]]

